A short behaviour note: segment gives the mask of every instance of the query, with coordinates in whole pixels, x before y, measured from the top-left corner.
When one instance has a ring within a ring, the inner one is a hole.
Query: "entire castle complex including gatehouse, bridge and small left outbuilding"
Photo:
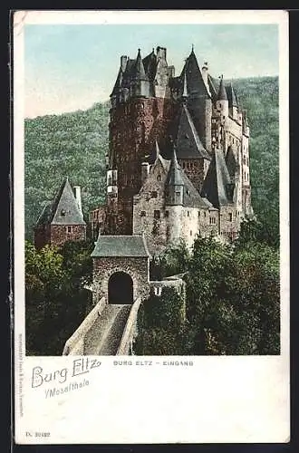
[[[217,86],[207,63],[199,69],[193,48],[177,77],[166,56],[163,47],[143,59],[140,50],[134,60],[121,56],[111,92],[106,203],[90,218],[93,309],[63,354],[130,353],[137,313],[150,293],[170,287],[185,301],[180,275],[150,280],[150,257],[179,239],[189,247],[197,236],[234,240],[252,215],[249,126],[232,84],[221,77]],[[66,178],[43,208],[37,248],[86,237],[80,188],[74,189]],[[117,342],[110,334],[96,342],[106,324],[117,329]]]

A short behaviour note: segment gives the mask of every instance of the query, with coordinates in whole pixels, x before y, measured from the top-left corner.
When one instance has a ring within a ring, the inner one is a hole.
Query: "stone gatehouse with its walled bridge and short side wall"
[[[149,281],[149,251],[144,236],[99,236],[92,252],[93,308],[72,337],[63,355],[130,355],[137,334],[141,302],[163,286],[184,291],[178,276]]]

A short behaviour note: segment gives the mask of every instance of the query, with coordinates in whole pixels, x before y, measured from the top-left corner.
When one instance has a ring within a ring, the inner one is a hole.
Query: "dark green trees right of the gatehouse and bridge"
[[[248,225],[237,245],[212,237],[195,241],[185,275],[187,322],[175,322],[173,295],[165,294],[163,303],[151,298],[139,313],[137,353],[279,353],[278,250],[259,236],[254,222]]]

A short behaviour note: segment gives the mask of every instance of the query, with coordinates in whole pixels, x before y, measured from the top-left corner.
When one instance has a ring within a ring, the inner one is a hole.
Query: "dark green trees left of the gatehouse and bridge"
[[[90,304],[90,243],[35,250],[25,242],[25,326],[29,355],[60,355]]]

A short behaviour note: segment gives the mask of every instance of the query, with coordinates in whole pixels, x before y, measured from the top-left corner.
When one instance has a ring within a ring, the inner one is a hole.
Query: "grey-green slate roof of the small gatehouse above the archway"
[[[144,236],[101,236],[93,249],[92,257],[149,257]]]

